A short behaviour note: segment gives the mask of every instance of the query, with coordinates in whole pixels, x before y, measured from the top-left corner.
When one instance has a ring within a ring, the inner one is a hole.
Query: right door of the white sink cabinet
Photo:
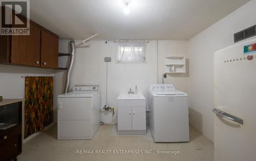
[[[133,107],[133,130],[145,130],[146,129],[146,108],[145,107]]]

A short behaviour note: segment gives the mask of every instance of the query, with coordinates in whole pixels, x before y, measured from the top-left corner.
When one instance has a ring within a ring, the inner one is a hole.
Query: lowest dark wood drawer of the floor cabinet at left
[[[18,144],[19,138],[18,136],[10,139],[8,142],[0,145],[0,160],[10,160],[13,157],[20,154],[21,145]]]

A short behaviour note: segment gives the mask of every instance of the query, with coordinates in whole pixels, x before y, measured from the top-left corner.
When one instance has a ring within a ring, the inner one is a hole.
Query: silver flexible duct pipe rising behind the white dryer
[[[74,64],[74,55],[75,55],[75,41],[71,40],[69,43],[70,43],[70,47],[71,47],[71,55],[70,55],[69,68],[68,68],[67,75],[66,75],[66,84],[65,84],[64,93],[68,93],[70,73],[71,73],[71,70],[72,70],[72,67]]]

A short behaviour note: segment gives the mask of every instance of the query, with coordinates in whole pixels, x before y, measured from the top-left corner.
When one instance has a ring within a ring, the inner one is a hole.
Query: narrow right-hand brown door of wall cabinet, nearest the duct
[[[58,42],[56,35],[41,31],[41,67],[58,67]]]

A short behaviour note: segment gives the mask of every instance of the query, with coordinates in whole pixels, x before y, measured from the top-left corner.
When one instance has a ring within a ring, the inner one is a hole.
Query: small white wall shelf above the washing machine
[[[186,58],[181,56],[165,57],[165,73],[186,73]]]

